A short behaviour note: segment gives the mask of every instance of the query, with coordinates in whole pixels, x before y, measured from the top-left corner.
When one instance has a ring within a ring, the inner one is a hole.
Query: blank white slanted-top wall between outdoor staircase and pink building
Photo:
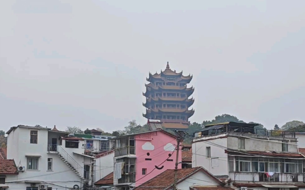
[[[96,159],[94,183],[113,172],[114,152]]]

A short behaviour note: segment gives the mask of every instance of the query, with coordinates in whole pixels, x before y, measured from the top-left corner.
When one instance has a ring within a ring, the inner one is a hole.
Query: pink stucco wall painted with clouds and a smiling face
[[[147,136],[147,134],[149,135]],[[167,169],[175,169],[176,151],[173,152],[176,147],[175,145],[176,138],[160,131],[135,136],[135,147],[137,156],[136,186],[148,181],[149,179],[152,179],[153,177],[157,176],[158,174],[161,174]],[[147,153],[149,153],[149,156],[147,155]],[[169,157],[169,154],[172,154],[171,157]],[[152,160],[145,160],[145,158],[150,158]],[[167,158],[172,159],[173,161],[166,161]],[[178,162],[181,162],[181,149],[179,151]],[[159,167],[163,168],[161,170],[156,169],[155,165],[160,165]],[[147,169],[147,174],[150,172],[152,173],[146,176],[142,175],[142,168]],[[178,165],[178,168],[181,168],[181,164]]]

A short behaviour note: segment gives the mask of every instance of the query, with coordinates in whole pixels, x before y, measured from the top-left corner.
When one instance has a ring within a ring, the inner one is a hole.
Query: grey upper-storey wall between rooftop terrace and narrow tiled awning
[[[296,142],[288,144],[288,152],[298,152]],[[228,137],[228,148],[238,149],[238,137]],[[282,141],[266,139],[252,139],[245,138],[245,150],[246,151],[276,151],[282,152]]]

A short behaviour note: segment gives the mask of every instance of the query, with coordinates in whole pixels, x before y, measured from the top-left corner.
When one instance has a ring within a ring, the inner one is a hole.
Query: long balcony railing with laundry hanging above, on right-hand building
[[[274,173],[267,177],[266,173],[230,172],[229,177],[233,181],[240,182],[305,182],[305,174]]]

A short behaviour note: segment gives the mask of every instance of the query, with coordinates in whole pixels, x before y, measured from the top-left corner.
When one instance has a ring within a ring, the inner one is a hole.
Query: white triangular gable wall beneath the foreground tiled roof
[[[177,189],[190,190],[190,186],[198,186],[198,185],[217,187],[219,185],[219,183],[216,182],[211,177],[209,177],[204,172],[198,171],[197,173],[191,175],[190,177],[188,177],[184,181],[178,183],[177,184]]]

